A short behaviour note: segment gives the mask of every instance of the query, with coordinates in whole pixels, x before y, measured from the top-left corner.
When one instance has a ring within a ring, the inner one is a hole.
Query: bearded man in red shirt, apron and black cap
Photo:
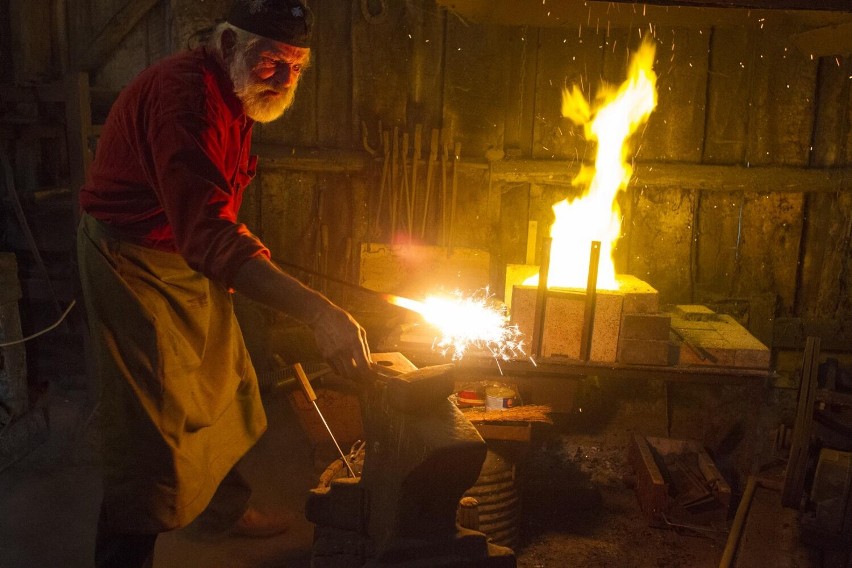
[[[304,322],[341,376],[369,367],[364,329],[279,270],[237,221],[255,122],[280,117],[310,63],[301,0],[235,0],[202,48],[121,93],[81,190],[79,269],[101,383],[99,567],[150,566],[158,533],[280,533],[235,466],[266,429],[236,291]]]

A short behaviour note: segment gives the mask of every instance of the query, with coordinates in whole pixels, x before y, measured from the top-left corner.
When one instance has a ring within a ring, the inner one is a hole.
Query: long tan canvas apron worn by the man
[[[103,514],[128,533],[185,526],[266,429],[231,296],[180,255],[123,241],[89,215],[77,240]]]

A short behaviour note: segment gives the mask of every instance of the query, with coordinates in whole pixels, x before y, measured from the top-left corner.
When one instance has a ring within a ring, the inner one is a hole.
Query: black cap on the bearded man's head
[[[302,0],[234,0],[228,22],[296,47],[310,47],[314,16]]]

